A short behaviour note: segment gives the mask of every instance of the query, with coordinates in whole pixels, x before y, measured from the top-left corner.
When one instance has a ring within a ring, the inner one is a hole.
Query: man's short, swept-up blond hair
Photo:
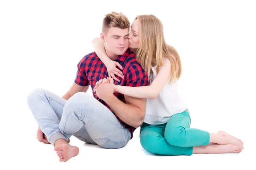
[[[111,27],[117,27],[121,29],[130,28],[130,22],[122,12],[111,12],[106,14],[102,23],[102,32],[107,34],[108,29]]]

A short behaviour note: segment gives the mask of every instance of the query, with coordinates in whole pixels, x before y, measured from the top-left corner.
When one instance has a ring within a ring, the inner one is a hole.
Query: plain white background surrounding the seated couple
[[[255,167],[255,9],[253,0],[1,0],[1,167]],[[37,141],[38,126],[27,95],[35,88],[64,95],[76,77],[77,63],[93,51],[90,41],[99,37],[104,14],[111,11],[123,12],[131,23],[139,14],[154,14],[162,21],[166,42],[180,54],[183,74],[178,86],[189,104],[191,127],[214,133],[224,130],[238,137],[244,142],[241,153],[154,156],[141,147],[137,129],[128,145],[118,150],[71,137],[70,144],[80,153],[64,163],[58,161],[52,145]]]

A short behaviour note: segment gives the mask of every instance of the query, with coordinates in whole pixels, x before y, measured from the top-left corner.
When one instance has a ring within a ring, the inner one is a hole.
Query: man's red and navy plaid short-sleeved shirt
[[[147,73],[143,70],[140,63],[136,61],[136,54],[134,54],[134,52],[130,48],[128,48],[122,56],[116,57],[115,61],[119,62],[119,64],[122,65],[122,73],[125,77],[125,79],[116,77],[120,80],[120,82],[114,81],[115,85],[131,87],[149,85]],[[95,87],[97,81],[108,77],[108,71],[106,66],[99,59],[95,52],[84,56],[78,63],[77,67],[78,70],[76,73],[75,83],[81,86],[90,85],[92,90]],[[114,93],[114,95],[119,100],[126,103],[125,96],[123,94]],[[99,97],[94,92],[93,97],[113,112],[113,110],[102,99],[99,99]],[[113,114],[116,116],[114,112]],[[131,132],[132,138],[134,130],[136,128],[126,124],[121,119],[119,119],[118,116],[116,116],[116,118],[119,120],[119,122],[122,123],[125,128],[128,128],[128,130]]]

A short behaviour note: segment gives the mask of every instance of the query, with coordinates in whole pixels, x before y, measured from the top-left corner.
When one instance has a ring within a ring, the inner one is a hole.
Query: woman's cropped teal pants
[[[176,113],[160,125],[143,123],[140,128],[140,144],[150,153],[160,155],[192,155],[193,147],[209,144],[207,131],[190,128],[187,111]]]

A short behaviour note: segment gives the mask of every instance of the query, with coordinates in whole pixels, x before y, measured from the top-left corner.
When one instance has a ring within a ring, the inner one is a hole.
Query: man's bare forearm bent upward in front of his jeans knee
[[[114,95],[104,101],[126,124],[137,128],[143,123],[145,113],[139,107],[125,104]]]

